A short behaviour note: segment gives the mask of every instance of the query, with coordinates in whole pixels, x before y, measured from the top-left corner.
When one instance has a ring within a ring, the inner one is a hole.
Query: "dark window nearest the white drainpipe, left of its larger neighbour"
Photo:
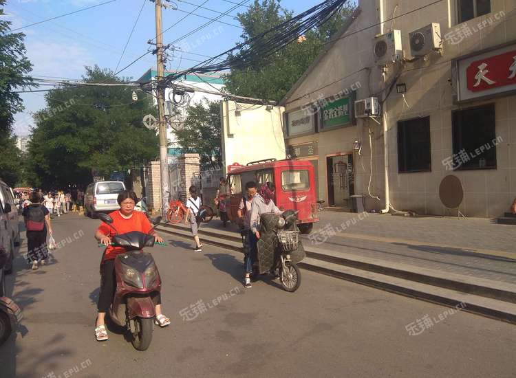
[[[398,122],[398,172],[429,172],[430,117]]]

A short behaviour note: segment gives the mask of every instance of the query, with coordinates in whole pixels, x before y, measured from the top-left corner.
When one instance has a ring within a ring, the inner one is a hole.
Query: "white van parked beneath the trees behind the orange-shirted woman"
[[[122,181],[97,181],[89,184],[84,196],[84,214],[96,218],[97,212],[119,209],[116,199],[125,190]]]

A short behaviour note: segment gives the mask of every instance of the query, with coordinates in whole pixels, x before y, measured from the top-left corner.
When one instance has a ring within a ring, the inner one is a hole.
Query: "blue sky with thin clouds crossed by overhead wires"
[[[4,12],[8,20],[12,21],[11,28],[15,29],[105,1],[8,0]],[[204,1],[171,1],[169,4],[177,4],[178,10],[163,9],[163,30],[180,21],[188,12],[194,10],[196,5],[201,5]],[[245,12],[246,5],[254,0],[247,0],[244,5],[235,5],[241,1],[245,0],[206,0],[202,6],[217,12],[224,13],[231,8],[235,9],[219,19],[224,23],[211,23],[178,41],[175,45],[180,47],[182,52],[175,51],[169,56],[166,69],[192,67],[205,59],[196,54],[215,56],[241,41],[242,30],[234,26],[239,26],[235,16],[239,12]],[[281,5],[298,14],[319,2],[321,0],[283,0]],[[122,56],[122,50],[140,9],[140,18]],[[210,19],[220,15],[211,10],[198,9],[195,10],[195,14]],[[96,64],[102,68],[115,69],[120,56],[122,60],[118,69],[122,69],[149,49],[147,41],[155,36],[154,13],[155,5],[151,0],[116,0],[54,21],[23,28],[20,31],[25,33],[27,56],[33,65],[31,75],[38,78],[80,79],[85,74],[85,66]],[[163,42],[166,44],[178,40],[208,21],[200,16],[189,15],[164,32]],[[136,80],[155,66],[155,56],[149,54],[120,73],[120,76]],[[25,111],[15,116],[14,132],[17,135],[28,135],[33,124],[31,113],[45,108],[45,98],[44,93],[23,93],[22,98]]]

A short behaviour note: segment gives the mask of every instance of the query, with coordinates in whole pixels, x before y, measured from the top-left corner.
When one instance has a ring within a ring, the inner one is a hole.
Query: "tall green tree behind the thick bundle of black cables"
[[[346,6],[332,19],[310,30],[299,42],[290,43],[250,67],[232,69],[224,78],[226,89],[240,96],[281,100],[321,52],[325,42],[341,29],[351,12],[352,8]],[[262,0],[261,3],[255,0],[245,13],[238,14],[244,27],[241,38],[246,41],[291,17],[292,12],[282,9],[279,0]]]

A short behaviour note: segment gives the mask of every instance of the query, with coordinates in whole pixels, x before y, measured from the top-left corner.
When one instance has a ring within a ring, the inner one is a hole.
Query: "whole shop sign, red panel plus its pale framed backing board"
[[[516,45],[457,60],[458,100],[516,90]]]

